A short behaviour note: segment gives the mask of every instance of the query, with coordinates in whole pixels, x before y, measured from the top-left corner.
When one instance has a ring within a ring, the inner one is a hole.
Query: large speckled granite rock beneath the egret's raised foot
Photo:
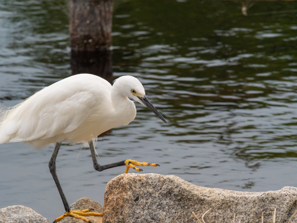
[[[176,176],[122,174],[108,182],[104,196],[103,223],[288,222],[297,208],[297,188],[279,191],[241,192],[193,185]],[[290,223],[297,223],[297,214]]]

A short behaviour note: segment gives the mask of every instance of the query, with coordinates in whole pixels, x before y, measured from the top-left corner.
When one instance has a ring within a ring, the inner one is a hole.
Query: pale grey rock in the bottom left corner
[[[48,223],[48,219],[31,208],[23,205],[8,206],[0,209],[1,223]]]

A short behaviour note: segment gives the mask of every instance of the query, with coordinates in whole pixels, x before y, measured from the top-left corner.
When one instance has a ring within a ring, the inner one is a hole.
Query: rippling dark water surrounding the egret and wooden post
[[[6,106],[71,74],[67,2],[0,2],[0,98]],[[156,162],[143,173],[239,191],[297,186],[297,2],[116,1],[113,76],[132,75],[168,120],[137,104],[128,126],[98,138],[101,164]],[[0,208],[64,213],[48,170],[53,148],[0,145]],[[103,205],[124,172],[93,169],[90,151],[62,145],[57,173],[69,203]],[[81,151],[80,151],[81,150]]]

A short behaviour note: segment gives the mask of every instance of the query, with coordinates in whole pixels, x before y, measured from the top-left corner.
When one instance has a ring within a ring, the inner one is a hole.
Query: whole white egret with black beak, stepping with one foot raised
[[[121,76],[113,86],[91,74],[70,76],[43,88],[18,105],[0,111],[0,144],[24,141],[41,148],[56,143],[49,168],[63,201],[65,214],[55,222],[65,216],[74,216],[87,222],[90,221],[82,215],[102,216],[89,212],[89,209],[70,210],[56,174],[56,157],[61,142],[89,143],[94,169],[97,171],[126,166],[125,173],[130,167],[141,172],[142,169],[135,166],[159,166],[130,159],[102,166],[97,163],[94,139],[111,128],[128,125],[136,116],[135,104],[128,97],[151,109],[166,123],[146,98],[140,81],[132,76]]]

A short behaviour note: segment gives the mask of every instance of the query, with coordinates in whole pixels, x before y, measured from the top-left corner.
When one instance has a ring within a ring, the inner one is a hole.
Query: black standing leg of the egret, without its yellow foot
[[[53,176],[53,178],[55,180],[55,183],[56,183],[56,186],[58,188],[59,194],[60,194],[60,196],[62,198],[65,211],[69,212],[70,211],[69,204],[68,204],[68,202],[66,200],[65,194],[63,193],[61,184],[59,182],[59,179],[58,179],[58,176],[57,176],[57,173],[56,173],[56,158],[57,158],[60,146],[61,146],[61,142],[57,142],[55,150],[53,152],[53,155],[50,158],[50,162],[48,163],[48,167],[50,168],[50,173],[52,174],[52,176]]]

